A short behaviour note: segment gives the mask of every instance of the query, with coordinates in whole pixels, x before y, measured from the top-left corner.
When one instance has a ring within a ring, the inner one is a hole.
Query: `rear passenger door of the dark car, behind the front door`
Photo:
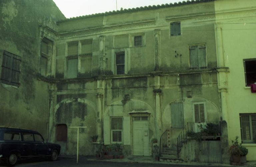
[[[23,132],[23,152],[21,156],[31,157],[36,155],[36,143],[33,133]]]

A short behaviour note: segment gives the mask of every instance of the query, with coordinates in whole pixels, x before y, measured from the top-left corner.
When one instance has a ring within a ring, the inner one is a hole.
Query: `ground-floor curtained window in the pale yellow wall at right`
[[[240,114],[242,142],[252,142],[256,138],[256,114]]]

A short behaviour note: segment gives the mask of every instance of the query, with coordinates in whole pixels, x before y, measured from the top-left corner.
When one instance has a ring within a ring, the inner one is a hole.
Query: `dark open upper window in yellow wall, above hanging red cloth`
[[[244,59],[245,85],[256,82],[256,59]]]

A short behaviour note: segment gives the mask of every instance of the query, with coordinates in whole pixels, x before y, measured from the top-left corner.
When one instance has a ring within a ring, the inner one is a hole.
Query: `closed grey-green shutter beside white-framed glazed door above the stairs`
[[[172,128],[184,128],[183,104],[171,103]]]

